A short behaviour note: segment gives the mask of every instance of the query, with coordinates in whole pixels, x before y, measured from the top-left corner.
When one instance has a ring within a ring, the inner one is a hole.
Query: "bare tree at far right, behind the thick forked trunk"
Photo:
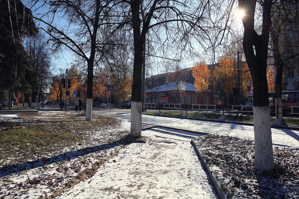
[[[279,120],[275,122],[278,124],[281,124],[283,120],[282,85],[284,71],[289,67],[292,67],[293,70],[297,69],[292,64],[292,61],[296,63],[296,58],[299,57],[298,40],[296,41],[296,35],[299,34],[299,16],[298,11],[296,11],[298,9],[298,1],[293,0],[277,1],[272,8],[270,33],[272,41],[271,50],[273,51],[276,68],[275,104],[279,108],[275,108],[275,111]]]

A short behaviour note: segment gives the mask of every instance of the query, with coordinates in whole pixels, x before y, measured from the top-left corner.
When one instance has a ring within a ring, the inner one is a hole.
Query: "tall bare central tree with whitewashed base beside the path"
[[[183,0],[128,0],[124,1],[130,6],[132,16],[132,29],[134,36],[134,69],[131,108],[131,135],[141,137],[142,126],[142,65],[144,59],[144,44],[150,29],[157,38],[164,39],[165,43],[178,42],[185,47],[182,38],[198,26],[203,20],[203,13],[207,3],[202,3],[198,9],[190,4],[191,1]],[[188,6],[189,5],[189,6]],[[126,6],[126,5],[124,5]],[[160,34],[163,33],[163,34]]]

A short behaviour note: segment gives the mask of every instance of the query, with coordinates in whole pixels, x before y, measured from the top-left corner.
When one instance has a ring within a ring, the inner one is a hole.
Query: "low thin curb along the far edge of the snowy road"
[[[181,116],[170,116],[170,115],[156,115],[156,114],[148,114],[142,113],[144,115],[158,116],[158,117],[171,117],[177,119],[189,119],[189,120],[199,120],[199,121],[211,121],[211,122],[219,122],[219,123],[234,123],[245,126],[253,126],[253,123],[245,123],[245,122],[237,122],[237,121],[226,121],[226,120],[216,120],[216,119],[200,119],[195,117],[181,117]],[[271,125],[271,128],[281,128],[281,129],[289,129],[289,130],[299,130],[299,127],[290,127],[290,126],[278,126]]]

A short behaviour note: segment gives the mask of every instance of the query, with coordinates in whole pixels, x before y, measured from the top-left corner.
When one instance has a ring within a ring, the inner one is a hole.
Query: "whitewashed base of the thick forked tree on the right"
[[[273,147],[269,106],[253,106],[255,140],[254,165],[259,170],[273,170]]]

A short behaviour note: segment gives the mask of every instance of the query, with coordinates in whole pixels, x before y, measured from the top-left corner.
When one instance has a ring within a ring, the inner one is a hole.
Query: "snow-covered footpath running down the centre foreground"
[[[190,139],[143,131],[148,143],[132,143],[97,173],[59,199],[215,199],[214,188]]]

